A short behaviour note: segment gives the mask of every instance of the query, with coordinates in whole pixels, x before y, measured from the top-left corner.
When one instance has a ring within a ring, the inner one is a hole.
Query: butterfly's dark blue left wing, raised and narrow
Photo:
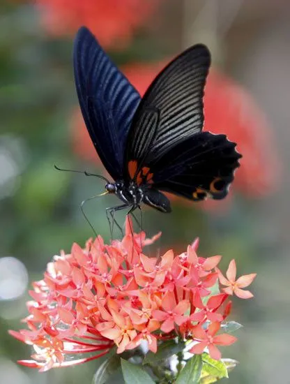
[[[121,179],[125,140],[140,96],[85,27],[75,38],[73,63],[79,105],[93,145],[109,174]]]

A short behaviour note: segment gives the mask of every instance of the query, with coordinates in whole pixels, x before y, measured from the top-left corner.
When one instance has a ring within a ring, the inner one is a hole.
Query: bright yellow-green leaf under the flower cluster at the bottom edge
[[[201,355],[202,366],[201,372],[201,383],[215,383],[220,378],[228,378],[227,367],[222,360],[214,360],[208,355],[208,353],[203,353]]]

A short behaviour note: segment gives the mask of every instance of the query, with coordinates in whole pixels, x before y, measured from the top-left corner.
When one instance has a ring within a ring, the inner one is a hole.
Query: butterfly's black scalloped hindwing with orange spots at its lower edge
[[[171,148],[151,167],[155,188],[190,200],[224,198],[241,154],[226,135],[201,132]]]

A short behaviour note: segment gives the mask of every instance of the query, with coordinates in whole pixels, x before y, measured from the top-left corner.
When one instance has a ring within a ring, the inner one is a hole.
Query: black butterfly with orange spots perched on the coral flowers
[[[171,212],[160,191],[199,201],[224,198],[239,166],[236,144],[202,132],[211,54],[194,45],[171,61],[141,98],[91,32],[75,38],[75,83],[93,145],[114,179],[105,186],[123,204]]]

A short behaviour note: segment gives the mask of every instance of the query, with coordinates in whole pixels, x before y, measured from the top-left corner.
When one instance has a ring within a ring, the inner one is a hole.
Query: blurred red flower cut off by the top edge
[[[123,47],[160,0],[36,0],[49,34],[75,34],[88,27],[104,47]]]

